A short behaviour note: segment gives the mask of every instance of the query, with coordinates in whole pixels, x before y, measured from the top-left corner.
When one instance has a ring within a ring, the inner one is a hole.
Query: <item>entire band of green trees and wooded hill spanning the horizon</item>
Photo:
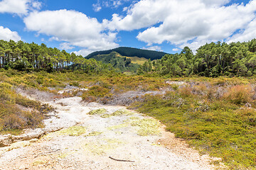
[[[47,72],[80,69],[85,73],[115,70],[117,72],[150,73],[156,76],[188,77],[198,75],[204,77],[244,76],[250,77],[256,73],[256,39],[249,42],[211,42],[203,45],[193,54],[189,47],[184,47],[180,53],[166,54],[159,58],[149,50],[134,50],[134,48],[119,47],[119,54],[129,57],[148,58],[141,67],[131,64],[127,58],[119,58],[105,51],[98,57],[95,52],[90,59],[68,53],[65,50],[47,47],[45,44],[26,43],[22,41],[9,42],[0,40],[0,68],[18,69],[20,71],[45,70]],[[118,50],[116,50],[118,51]],[[98,52],[96,52],[98,54]],[[157,53],[157,52],[155,52]],[[100,54],[100,53],[99,53]],[[159,52],[157,53],[160,54]],[[162,55],[164,53],[161,53]],[[107,56],[110,55],[110,56]],[[148,57],[151,55],[151,57]],[[107,57],[106,57],[107,56]],[[94,58],[97,60],[95,60]]]

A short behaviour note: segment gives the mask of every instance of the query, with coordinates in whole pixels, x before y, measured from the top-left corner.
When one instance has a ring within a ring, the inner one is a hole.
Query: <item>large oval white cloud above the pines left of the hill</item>
[[[96,18],[78,11],[35,11],[24,18],[28,30],[52,36],[50,40],[65,41],[62,47],[85,47],[85,50],[107,50],[117,47],[117,33],[105,30]],[[68,46],[67,46],[68,45]]]

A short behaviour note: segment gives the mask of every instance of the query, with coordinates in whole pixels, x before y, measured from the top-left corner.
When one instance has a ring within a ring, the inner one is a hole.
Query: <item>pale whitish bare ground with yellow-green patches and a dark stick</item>
[[[64,98],[40,140],[0,148],[0,169],[213,169],[154,119],[120,106]]]

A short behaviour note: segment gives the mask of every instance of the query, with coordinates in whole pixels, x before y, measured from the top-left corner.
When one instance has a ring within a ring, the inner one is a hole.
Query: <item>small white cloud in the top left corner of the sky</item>
[[[34,0],[2,0],[0,1],[0,13],[26,14],[33,9],[41,8],[41,3]]]

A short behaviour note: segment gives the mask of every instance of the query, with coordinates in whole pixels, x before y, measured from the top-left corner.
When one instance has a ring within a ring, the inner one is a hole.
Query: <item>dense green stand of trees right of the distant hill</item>
[[[256,39],[248,42],[211,42],[193,54],[189,47],[180,53],[164,55],[160,60],[149,60],[138,73],[156,72],[160,75],[206,77],[252,76],[256,73]]]

